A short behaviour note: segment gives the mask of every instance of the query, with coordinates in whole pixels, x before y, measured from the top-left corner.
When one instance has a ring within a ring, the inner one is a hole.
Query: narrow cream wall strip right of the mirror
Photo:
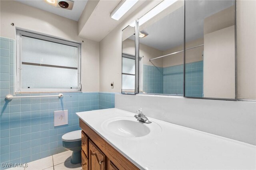
[[[238,98],[256,99],[256,1],[237,1]]]

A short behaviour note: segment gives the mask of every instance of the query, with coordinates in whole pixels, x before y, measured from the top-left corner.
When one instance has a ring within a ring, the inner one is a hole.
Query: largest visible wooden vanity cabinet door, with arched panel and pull
[[[90,170],[105,170],[106,156],[89,140],[89,168]]]

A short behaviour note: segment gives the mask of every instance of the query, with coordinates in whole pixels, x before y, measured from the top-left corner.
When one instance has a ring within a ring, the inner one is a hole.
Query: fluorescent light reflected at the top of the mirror
[[[155,6],[152,10],[150,10],[149,12],[147,12],[144,16],[142,16],[139,19],[139,25],[142,25],[143,23],[145,23],[146,21],[150,20],[151,18],[153,18],[154,16],[156,16],[157,14],[159,14],[160,12],[162,12],[163,10],[165,10],[166,8],[168,8],[169,6],[171,6],[174,2],[176,2],[177,0],[163,0],[162,2],[160,2],[160,4],[158,4],[157,6]],[[130,24],[131,27],[135,27],[135,21],[132,22]]]

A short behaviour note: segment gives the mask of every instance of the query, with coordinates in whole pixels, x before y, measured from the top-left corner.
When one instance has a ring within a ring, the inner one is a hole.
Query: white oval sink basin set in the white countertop
[[[103,124],[103,129],[108,133],[122,137],[143,137],[152,133],[161,132],[161,127],[152,122],[146,124],[137,121],[135,117],[118,117],[108,119]]]

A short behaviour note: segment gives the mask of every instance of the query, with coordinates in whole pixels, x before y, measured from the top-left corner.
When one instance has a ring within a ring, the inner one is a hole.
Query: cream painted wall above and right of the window
[[[14,26],[10,24],[14,23]],[[16,27],[81,44],[82,91],[99,91],[99,43],[78,37],[78,22],[16,1],[0,1],[0,36],[16,39]]]

